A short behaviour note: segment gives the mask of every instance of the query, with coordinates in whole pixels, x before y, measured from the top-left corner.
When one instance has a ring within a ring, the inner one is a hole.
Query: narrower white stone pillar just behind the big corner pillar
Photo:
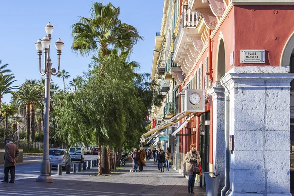
[[[221,173],[219,192],[224,186],[224,88],[217,81],[207,91],[212,97],[213,106],[213,172]]]

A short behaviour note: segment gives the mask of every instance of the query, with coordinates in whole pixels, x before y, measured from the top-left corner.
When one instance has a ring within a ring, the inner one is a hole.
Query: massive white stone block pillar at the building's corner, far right
[[[227,73],[230,92],[228,196],[290,194],[290,81],[293,73]]]

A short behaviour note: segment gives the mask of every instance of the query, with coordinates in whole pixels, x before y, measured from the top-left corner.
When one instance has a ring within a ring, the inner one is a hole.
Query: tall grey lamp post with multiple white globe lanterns
[[[50,175],[50,162],[48,159],[49,153],[49,113],[50,113],[50,79],[51,75],[57,75],[60,70],[60,55],[61,50],[64,47],[64,43],[61,39],[55,42],[55,48],[57,50],[58,56],[58,68],[52,68],[51,58],[50,58],[50,43],[51,34],[54,28],[49,22],[45,26],[46,36],[43,39],[39,39],[35,46],[38,51],[39,57],[39,73],[45,75],[45,104],[44,104],[44,141],[43,141],[43,160],[41,162],[40,173],[41,175],[37,178],[37,182],[53,182],[53,178]],[[44,51],[44,68],[41,69],[41,56],[42,50]]]

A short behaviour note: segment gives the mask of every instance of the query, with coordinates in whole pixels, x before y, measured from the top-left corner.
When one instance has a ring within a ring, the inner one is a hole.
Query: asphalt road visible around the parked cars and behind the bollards
[[[90,161],[98,159],[98,155],[86,155],[85,161]],[[17,165],[15,167],[15,178],[28,178],[28,177],[38,177],[40,175],[40,163],[42,161],[42,156],[24,156],[23,162],[24,164]],[[25,164],[25,162],[28,162]],[[73,163],[76,164],[76,170],[78,169],[77,161],[73,161],[71,164],[71,171],[73,168]],[[65,174],[66,171],[63,170],[62,174]],[[57,174],[57,168],[52,168],[51,175]],[[0,167],[0,179],[4,179],[4,167]]]

